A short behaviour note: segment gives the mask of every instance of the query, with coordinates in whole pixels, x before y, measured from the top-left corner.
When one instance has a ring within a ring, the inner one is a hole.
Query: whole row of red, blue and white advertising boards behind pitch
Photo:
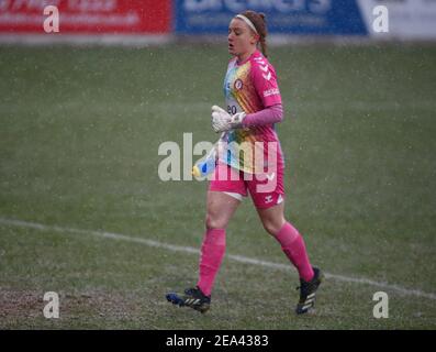
[[[272,36],[436,38],[436,0],[0,0],[0,36],[46,36],[47,6],[59,11],[59,32],[51,33],[57,41],[225,35],[232,15],[246,9],[266,13]],[[377,31],[381,22],[387,30]]]

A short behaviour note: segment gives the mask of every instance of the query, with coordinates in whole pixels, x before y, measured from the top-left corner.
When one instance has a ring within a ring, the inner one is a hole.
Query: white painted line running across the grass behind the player
[[[63,227],[58,227],[58,226],[46,226],[46,224],[42,224],[42,223],[35,223],[35,222],[29,222],[29,221],[22,221],[22,220],[4,219],[4,218],[0,218],[0,223],[5,224],[5,226],[19,227],[19,228],[35,229],[35,230],[41,230],[41,231],[57,231],[60,233],[91,234],[91,235],[103,238],[103,239],[112,239],[112,240],[121,240],[121,241],[141,243],[141,244],[145,244],[147,246],[165,249],[165,250],[172,251],[172,252],[185,252],[185,253],[193,253],[193,254],[200,253],[200,251],[198,249],[194,249],[191,246],[182,246],[182,245],[163,243],[163,242],[158,242],[158,241],[146,240],[146,239],[131,237],[131,235],[121,234],[121,233],[70,229],[70,228],[63,228]],[[228,254],[227,258],[238,262],[238,263],[243,263],[243,264],[259,265],[259,266],[270,267],[270,268],[275,268],[275,270],[289,271],[289,268],[290,268],[290,265],[272,263],[272,262],[261,261],[261,260],[257,260],[257,258],[250,258],[250,257],[246,257],[246,256],[242,256],[242,255]],[[436,294],[424,293],[420,289],[407,289],[407,288],[401,287],[399,285],[379,283],[379,282],[374,282],[374,280],[368,279],[368,278],[349,277],[349,276],[328,274],[328,273],[325,273],[325,277],[333,278],[335,280],[346,282],[346,283],[356,283],[356,284],[365,284],[365,285],[376,286],[376,287],[383,288],[383,289],[394,290],[399,294],[406,295],[406,296],[416,296],[416,297],[436,299]]]

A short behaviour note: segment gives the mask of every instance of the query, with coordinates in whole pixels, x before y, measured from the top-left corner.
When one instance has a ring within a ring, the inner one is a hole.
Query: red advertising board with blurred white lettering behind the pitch
[[[46,34],[44,9],[59,12],[59,34],[167,34],[170,0],[0,0],[0,33]]]

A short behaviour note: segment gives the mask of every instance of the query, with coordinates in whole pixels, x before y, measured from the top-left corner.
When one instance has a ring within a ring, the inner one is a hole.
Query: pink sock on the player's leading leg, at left
[[[225,230],[208,229],[201,246],[200,278],[197,284],[206,296],[211,295],[213,283],[220,270],[221,262],[223,261],[224,253]]]

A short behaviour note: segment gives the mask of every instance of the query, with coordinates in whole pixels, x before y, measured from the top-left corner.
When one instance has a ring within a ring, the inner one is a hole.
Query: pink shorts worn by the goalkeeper
[[[233,168],[224,163],[216,165],[209,190],[251,196],[256,208],[267,209],[284,199],[283,167],[261,175],[251,175]]]

